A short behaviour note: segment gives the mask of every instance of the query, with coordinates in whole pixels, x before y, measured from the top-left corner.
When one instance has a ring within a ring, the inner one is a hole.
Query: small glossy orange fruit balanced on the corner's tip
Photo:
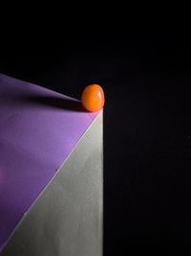
[[[90,84],[85,87],[81,95],[82,105],[90,112],[103,108],[105,95],[102,87],[98,84]]]

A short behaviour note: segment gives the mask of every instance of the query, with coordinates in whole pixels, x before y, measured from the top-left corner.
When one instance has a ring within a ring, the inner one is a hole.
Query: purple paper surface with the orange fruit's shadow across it
[[[0,74],[0,249],[96,115],[70,97]]]

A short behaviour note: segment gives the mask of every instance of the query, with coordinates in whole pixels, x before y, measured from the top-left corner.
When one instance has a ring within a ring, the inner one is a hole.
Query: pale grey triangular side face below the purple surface
[[[102,156],[101,112],[1,256],[101,256]]]

